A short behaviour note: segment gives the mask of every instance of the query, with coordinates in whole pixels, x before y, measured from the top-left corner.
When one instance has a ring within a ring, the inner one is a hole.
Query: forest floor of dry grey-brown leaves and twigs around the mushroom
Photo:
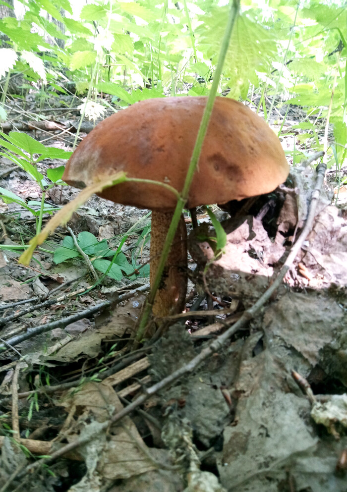
[[[20,128],[72,150],[80,113],[66,103],[56,98],[38,109],[29,98],[25,111],[13,103],[3,131]],[[33,130],[43,114],[49,122]],[[290,108],[281,141],[286,151],[294,143],[305,149],[310,161],[317,157],[311,140],[295,129],[304,118]],[[252,311],[304,227],[318,162],[293,166],[284,185],[246,204],[237,221],[228,213],[235,204],[216,208],[227,246],[206,273],[206,245],[190,232],[186,312],[136,350],[129,339],[149,289],[148,211],[93,196],[27,268],[18,258],[37,217],[0,200],[1,492],[346,491],[346,168],[328,170],[284,281]],[[1,188],[27,203],[41,200],[23,169],[6,157],[0,163]],[[46,159],[38,170],[46,175],[60,165]],[[59,208],[75,195],[55,185],[46,204]],[[197,216],[212,234],[205,211]],[[124,241],[113,278],[97,271],[96,280],[78,249],[62,261],[58,248],[73,244],[71,233],[92,262],[98,241],[106,246],[100,260],[112,259]]]

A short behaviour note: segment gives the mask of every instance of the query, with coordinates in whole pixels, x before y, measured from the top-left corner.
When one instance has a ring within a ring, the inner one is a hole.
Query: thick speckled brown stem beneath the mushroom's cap
[[[170,227],[173,212],[152,211],[150,283],[158,270],[163,245]],[[187,231],[183,215],[180,218],[173,243],[166,261],[161,282],[154,299],[153,314],[156,317],[180,313],[187,292]]]

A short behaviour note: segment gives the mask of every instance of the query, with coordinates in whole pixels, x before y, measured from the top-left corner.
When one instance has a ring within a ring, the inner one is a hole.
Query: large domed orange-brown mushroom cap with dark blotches
[[[99,123],[68,161],[63,179],[78,188],[124,171],[183,188],[206,97],[141,101]],[[226,203],[269,193],[284,182],[289,165],[267,123],[243,104],[215,100],[187,207]],[[174,194],[155,184],[123,182],[99,196],[116,203],[169,211]]]

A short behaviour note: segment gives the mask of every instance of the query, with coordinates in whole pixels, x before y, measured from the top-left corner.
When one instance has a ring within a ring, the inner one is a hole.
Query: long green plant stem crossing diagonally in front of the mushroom
[[[161,280],[161,277],[162,277],[162,274],[164,271],[166,260],[168,258],[171,244],[173,242],[173,237],[174,237],[175,231],[177,229],[178,222],[179,222],[179,219],[180,219],[181,214],[182,214],[182,210],[183,210],[183,208],[187,202],[187,199],[188,199],[189,188],[190,188],[191,182],[193,180],[194,172],[195,172],[195,169],[196,169],[198,161],[199,161],[202,144],[203,144],[203,141],[205,138],[206,130],[208,127],[208,122],[209,122],[209,119],[210,119],[210,116],[212,113],[213,104],[214,104],[214,101],[215,101],[215,98],[217,95],[217,90],[218,90],[220,78],[222,75],[224,60],[225,60],[225,57],[227,55],[227,51],[228,51],[228,47],[229,47],[229,43],[230,43],[230,39],[231,39],[231,34],[232,34],[232,29],[233,29],[233,26],[234,26],[234,23],[236,20],[236,16],[238,13],[238,9],[239,9],[239,3],[240,3],[239,0],[232,0],[232,3],[231,3],[230,13],[229,13],[229,17],[228,17],[228,24],[227,24],[227,28],[226,28],[225,33],[224,33],[221,52],[219,54],[217,68],[216,68],[216,71],[215,71],[215,74],[213,77],[211,92],[210,92],[210,95],[208,97],[206,107],[205,107],[205,110],[204,110],[204,113],[202,116],[198,135],[196,137],[196,142],[195,142],[195,146],[193,149],[193,154],[192,154],[192,157],[190,160],[188,172],[187,172],[185,182],[183,185],[183,190],[180,194],[180,197],[178,198],[177,205],[176,205],[176,208],[175,208],[174,213],[173,213],[173,219],[171,221],[171,224],[170,224],[170,227],[168,230],[168,234],[166,236],[166,240],[165,240],[165,243],[163,246],[163,253],[162,253],[162,256],[160,257],[157,274],[156,274],[156,277],[154,279],[153,285],[151,285],[151,292],[148,296],[148,299],[147,299],[147,302],[146,302],[146,305],[145,305],[145,308],[144,308],[144,311],[143,311],[143,314],[142,314],[142,317],[141,317],[141,320],[139,323],[139,327],[138,327],[137,334],[136,334],[136,340],[137,341],[142,340],[145,328],[146,328],[148,320],[149,320],[149,316],[150,316],[151,311],[152,311],[154,298],[156,296],[156,293],[157,293],[157,290],[158,290],[158,287],[160,284],[160,280]]]

